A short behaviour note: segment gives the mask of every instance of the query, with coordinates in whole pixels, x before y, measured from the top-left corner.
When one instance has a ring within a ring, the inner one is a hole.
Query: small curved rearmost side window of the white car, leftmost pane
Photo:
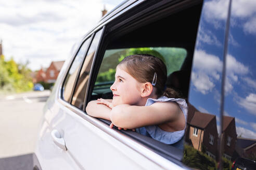
[[[72,90],[75,84],[76,77],[79,73],[79,68],[83,63],[84,55],[86,54],[89,43],[91,43],[91,37],[84,41],[80,47],[78,53],[76,54],[74,61],[69,69],[66,79],[63,83],[62,88],[62,98],[67,102],[71,102]]]

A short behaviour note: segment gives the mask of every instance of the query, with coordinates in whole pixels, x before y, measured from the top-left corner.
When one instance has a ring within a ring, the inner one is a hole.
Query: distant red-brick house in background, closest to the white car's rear
[[[46,69],[46,78],[45,78],[45,82],[48,82],[48,83],[53,83],[56,81],[58,75],[59,75],[59,72],[60,72],[60,69],[61,67],[63,66],[65,61],[57,61],[57,62],[52,62],[50,63],[50,66]]]

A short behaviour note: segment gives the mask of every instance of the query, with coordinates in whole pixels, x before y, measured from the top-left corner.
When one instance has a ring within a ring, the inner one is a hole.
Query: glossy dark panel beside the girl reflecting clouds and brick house
[[[186,165],[197,169],[215,169],[219,161],[218,136],[227,3],[204,1],[201,12],[190,78],[183,159]]]

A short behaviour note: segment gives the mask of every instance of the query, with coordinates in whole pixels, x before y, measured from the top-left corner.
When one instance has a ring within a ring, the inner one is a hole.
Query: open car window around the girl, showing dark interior
[[[112,98],[110,86],[114,80],[116,66],[126,55],[142,53],[161,58],[168,69],[167,87],[182,92],[184,96],[182,98],[187,98],[201,8],[202,4],[198,3],[186,9],[182,8],[179,12],[169,13],[169,15],[163,12],[164,17],[157,15],[159,17],[157,20],[144,20],[144,17],[141,17],[136,21],[141,20],[144,23],[139,22],[139,24],[134,20],[123,22],[123,17],[128,17],[126,15],[111,20],[106,25],[105,38],[101,42],[104,47],[95,58],[94,72],[91,75],[90,86],[88,86],[86,102],[97,100],[100,97]],[[152,13],[150,12],[150,15]],[[147,16],[147,18],[150,17]],[[191,20],[193,22],[190,22]],[[175,26],[167,26],[170,22]],[[110,124],[109,121],[99,120]],[[95,121],[98,120],[95,119]],[[149,147],[165,159],[181,161],[183,158],[184,137],[175,143],[182,144],[178,148],[178,145],[167,145],[136,132],[121,132]],[[114,136],[114,134],[110,135]],[[216,144],[217,139],[213,138],[212,143]]]

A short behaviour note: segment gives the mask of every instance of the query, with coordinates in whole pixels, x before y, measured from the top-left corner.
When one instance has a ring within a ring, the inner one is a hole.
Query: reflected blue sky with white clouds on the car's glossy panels
[[[208,1],[202,13],[189,101],[216,115],[220,95],[227,1]],[[224,114],[235,117],[237,135],[256,138],[256,2],[233,1],[227,51]]]

